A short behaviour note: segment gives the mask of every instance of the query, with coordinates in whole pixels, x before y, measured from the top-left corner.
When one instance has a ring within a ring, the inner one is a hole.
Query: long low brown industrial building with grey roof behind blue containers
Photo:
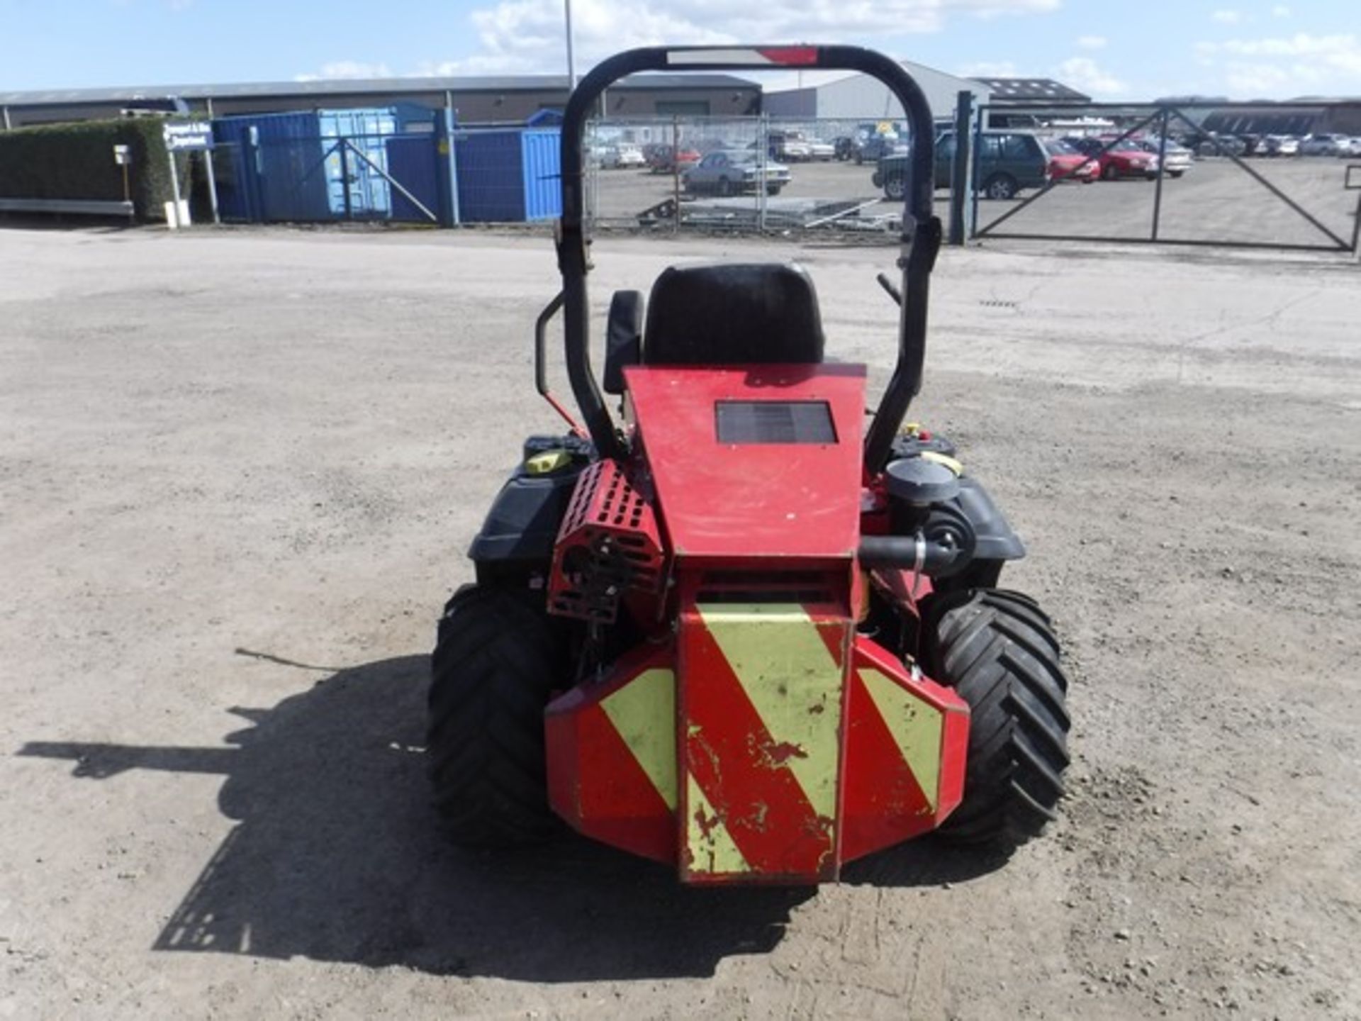
[[[144,109],[231,117],[401,105],[452,106],[461,124],[523,123],[539,110],[561,110],[569,91],[566,75],[54,88],[0,93],[0,125],[99,120]],[[749,116],[761,112],[761,86],[732,75],[633,75],[610,90],[606,103],[610,117]]]

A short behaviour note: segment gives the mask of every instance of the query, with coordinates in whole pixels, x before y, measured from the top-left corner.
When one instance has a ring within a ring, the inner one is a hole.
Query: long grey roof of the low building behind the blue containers
[[[163,84],[117,88],[46,88],[0,93],[0,105],[44,106],[67,103],[139,102],[148,99],[234,99],[279,95],[370,95],[391,93],[516,93],[566,91],[566,75],[498,75],[463,78],[343,78],[306,82],[248,82],[235,84]],[[630,75],[614,88],[759,88],[732,75]]]

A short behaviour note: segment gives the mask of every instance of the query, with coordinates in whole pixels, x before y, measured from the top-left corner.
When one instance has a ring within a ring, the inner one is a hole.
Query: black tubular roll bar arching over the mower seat
[[[562,272],[568,380],[591,438],[603,457],[622,455],[619,436],[591,369],[587,304],[587,242],[583,230],[585,181],[581,142],[600,94],[640,71],[777,71],[781,68],[860,71],[883,82],[902,103],[912,137],[908,189],[902,210],[902,308],[898,313],[898,359],[864,438],[866,467],[876,472],[889,459],[893,437],[912,398],[921,389],[927,339],[927,294],[940,249],[940,221],[934,215],[935,146],[931,108],[901,64],[860,46],[645,46],[618,53],[581,79],[568,99],[562,121],[562,219],[558,222],[558,270]]]

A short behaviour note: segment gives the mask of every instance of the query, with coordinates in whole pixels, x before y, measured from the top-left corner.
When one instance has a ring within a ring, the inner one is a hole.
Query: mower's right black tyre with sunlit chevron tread
[[[1068,681],[1049,618],[1019,592],[947,595],[927,610],[923,653],[972,711],[964,802],[940,834],[1025,843],[1055,818],[1068,766]]]

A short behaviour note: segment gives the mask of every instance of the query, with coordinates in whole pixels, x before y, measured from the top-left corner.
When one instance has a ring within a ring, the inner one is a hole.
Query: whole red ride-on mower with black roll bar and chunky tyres
[[[581,139],[640,71],[842,68],[912,127],[898,359],[823,363],[796,265],[672,267],[610,306],[591,368]],[[434,800],[453,839],[565,820],[691,884],[813,884],[940,830],[1018,843],[1063,794],[1067,682],[1034,600],[998,588],[1021,540],[953,447],[902,426],[940,245],[932,123],[901,65],[852,46],[649,48],[596,67],[562,125],[566,366],[584,427],[531,437],[440,621]],[[644,316],[644,308],[646,314]]]

